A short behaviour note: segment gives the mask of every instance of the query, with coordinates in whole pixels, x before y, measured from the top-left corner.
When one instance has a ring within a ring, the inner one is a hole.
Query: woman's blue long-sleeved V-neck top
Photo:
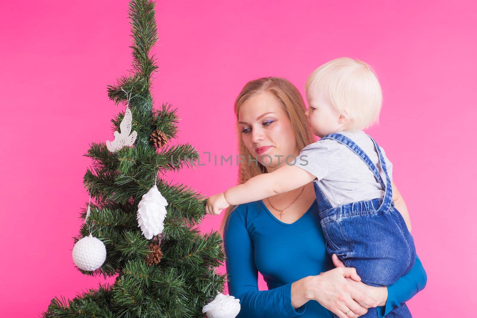
[[[237,318],[332,317],[316,300],[300,308],[291,305],[291,284],[303,277],[334,268],[326,254],[316,200],[294,223],[283,223],[259,200],[239,205],[224,229],[228,292],[240,299]],[[258,272],[269,290],[258,288]],[[411,299],[425,287],[427,276],[416,257],[409,273],[388,286],[383,318],[395,306]]]

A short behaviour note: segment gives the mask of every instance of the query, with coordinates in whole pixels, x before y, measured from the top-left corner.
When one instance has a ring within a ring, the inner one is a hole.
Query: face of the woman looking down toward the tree
[[[251,156],[266,166],[267,171],[285,165],[287,156],[297,157],[300,154],[290,119],[270,92],[250,97],[240,106],[239,131]],[[261,147],[265,148],[258,149]],[[287,162],[291,163],[294,159],[289,157]],[[248,158],[245,162],[248,163]]]

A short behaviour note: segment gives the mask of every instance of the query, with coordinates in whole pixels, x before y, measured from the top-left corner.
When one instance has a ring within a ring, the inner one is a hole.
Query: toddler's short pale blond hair
[[[381,85],[370,65],[341,57],[321,65],[305,84],[307,99],[322,93],[323,98],[348,118],[346,130],[363,130],[379,122],[383,103]]]

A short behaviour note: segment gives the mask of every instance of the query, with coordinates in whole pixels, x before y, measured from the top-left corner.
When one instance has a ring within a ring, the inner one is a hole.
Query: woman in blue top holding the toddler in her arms
[[[234,109],[239,154],[248,158],[239,165],[239,183],[292,162],[315,142],[300,92],[285,79],[247,83]],[[413,269],[388,287],[365,285],[354,268],[335,255],[330,259],[312,182],[229,207],[221,230],[229,294],[240,299],[239,318],[332,317],[331,312],[354,318],[376,305],[384,317],[422,290],[427,279],[418,257]],[[258,290],[258,271],[269,290]]]

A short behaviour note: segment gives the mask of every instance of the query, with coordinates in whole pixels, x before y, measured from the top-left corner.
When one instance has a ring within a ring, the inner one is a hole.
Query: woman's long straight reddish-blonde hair
[[[242,141],[242,134],[239,127],[240,106],[242,106],[242,104],[250,97],[262,92],[272,93],[287,113],[291,127],[293,127],[297,146],[300,150],[306,145],[315,142],[315,137],[311,132],[308,120],[305,116],[306,108],[303,97],[301,97],[301,94],[295,85],[281,77],[263,77],[245,84],[234,103],[234,112],[237,117],[236,126],[240,155],[243,155],[244,158],[249,158],[249,155],[251,155]],[[238,184],[243,184],[250,178],[265,173],[267,173],[267,169],[264,165],[259,162],[258,164],[249,164],[248,160],[245,160],[243,163],[239,164],[239,177],[237,182]],[[238,205],[229,206],[223,214],[222,224],[220,225],[220,233],[222,236],[224,235],[224,229],[228,223],[230,214],[237,208],[237,206]]]

